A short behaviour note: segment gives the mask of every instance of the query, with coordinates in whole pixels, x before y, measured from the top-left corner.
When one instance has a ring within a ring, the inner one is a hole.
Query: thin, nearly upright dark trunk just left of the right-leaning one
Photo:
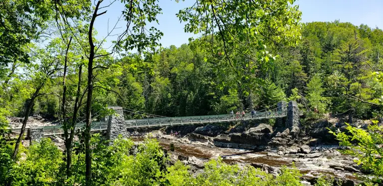
[[[72,37],[70,37],[69,39],[69,43],[66,47],[66,51],[65,51],[65,60],[64,60],[64,75],[63,75],[63,80],[62,80],[62,89],[63,89],[63,92],[62,92],[62,105],[61,105],[61,112],[62,112],[62,119],[63,119],[63,128],[64,128],[64,136],[65,136],[65,150],[66,150],[66,154],[68,156],[68,154],[71,154],[72,152],[68,151],[68,144],[69,144],[69,141],[68,141],[68,123],[67,123],[67,118],[66,118],[66,108],[65,108],[65,104],[66,104],[66,69],[68,68],[68,51],[69,51],[69,46],[70,46],[70,43],[72,42]],[[68,167],[68,159],[66,160],[67,161],[67,167],[66,167],[66,176],[69,177],[69,174],[70,174],[70,166]]]

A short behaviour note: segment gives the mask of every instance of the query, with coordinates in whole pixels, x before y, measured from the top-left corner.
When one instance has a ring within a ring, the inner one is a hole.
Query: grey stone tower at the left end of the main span
[[[109,107],[115,110],[113,115],[108,118],[108,129],[106,132],[107,139],[113,141],[122,135],[123,138],[129,137],[129,132],[125,124],[124,111],[122,107]]]

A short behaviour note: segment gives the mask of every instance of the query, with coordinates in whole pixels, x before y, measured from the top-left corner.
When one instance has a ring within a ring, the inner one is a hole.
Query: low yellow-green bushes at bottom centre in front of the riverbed
[[[283,167],[275,179],[259,169],[246,166],[228,165],[222,159],[205,163],[203,172],[195,178],[188,172],[182,162],[170,167],[167,179],[172,186],[301,186],[300,173],[297,169]]]

